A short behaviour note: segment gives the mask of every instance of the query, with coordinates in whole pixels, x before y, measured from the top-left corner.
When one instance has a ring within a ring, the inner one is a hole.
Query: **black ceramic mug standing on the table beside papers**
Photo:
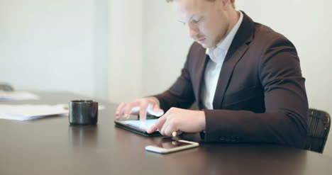
[[[98,102],[70,101],[69,122],[71,125],[96,125],[98,121]]]

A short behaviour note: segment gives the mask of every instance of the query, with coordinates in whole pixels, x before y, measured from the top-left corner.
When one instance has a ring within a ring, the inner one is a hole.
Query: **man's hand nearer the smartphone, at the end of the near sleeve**
[[[170,108],[147,132],[152,133],[156,130],[167,136],[172,136],[174,131],[201,132],[205,130],[205,113],[204,111]]]

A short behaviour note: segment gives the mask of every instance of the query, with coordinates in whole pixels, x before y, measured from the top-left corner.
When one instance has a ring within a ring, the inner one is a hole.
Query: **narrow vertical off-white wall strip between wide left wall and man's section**
[[[109,18],[109,101],[133,101],[142,96],[143,3],[110,0]]]

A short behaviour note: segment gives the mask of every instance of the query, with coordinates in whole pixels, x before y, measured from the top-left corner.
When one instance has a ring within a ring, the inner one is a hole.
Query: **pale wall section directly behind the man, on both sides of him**
[[[171,5],[145,0],[143,15],[143,96],[167,89],[179,76],[191,40],[177,22]],[[311,108],[332,114],[332,24],[328,0],[236,0],[238,9],[292,40],[306,77]],[[324,154],[332,156],[332,134]]]

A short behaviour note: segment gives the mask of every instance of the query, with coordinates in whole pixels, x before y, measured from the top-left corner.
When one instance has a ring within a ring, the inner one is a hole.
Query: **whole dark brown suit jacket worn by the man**
[[[197,101],[206,115],[206,142],[272,142],[303,147],[308,101],[294,45],[245,13],[216,86],[214,110],[201,103],[206,63],[201,45],[189,50],[181,76],[157,97],[164,111]]]

